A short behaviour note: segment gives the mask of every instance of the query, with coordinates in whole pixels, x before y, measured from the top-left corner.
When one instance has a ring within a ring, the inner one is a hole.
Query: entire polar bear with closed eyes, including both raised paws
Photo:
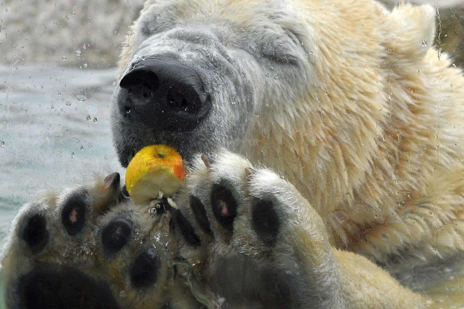
[[[123,166],[146,145],[180,152],[179,210],[141,210],[115,174],[39,196],[3,258],[8,306],[428,306],[374,263],[407,285],[462,261],[464,79],[431,46],[434,17],[373,0],[147,1],[113,141]]]

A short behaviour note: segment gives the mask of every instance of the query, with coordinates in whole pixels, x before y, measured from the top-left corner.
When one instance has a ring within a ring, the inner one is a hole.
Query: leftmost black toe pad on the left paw
[[[26,223],[20,233],[32,252],[40,252],[48,241],[47,221],[42,214],[35,214]]]

